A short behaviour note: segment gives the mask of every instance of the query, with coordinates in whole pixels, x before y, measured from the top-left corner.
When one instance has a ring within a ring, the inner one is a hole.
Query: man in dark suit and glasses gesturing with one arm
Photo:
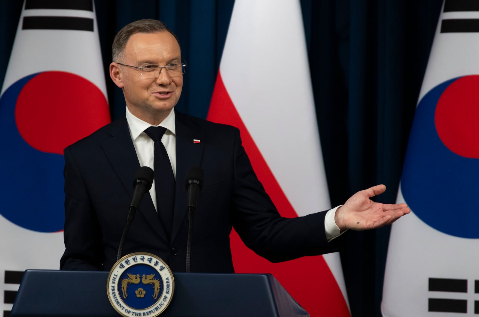
[[[65,149],[65,246],[60,268],[110,270],[140,166],[153,167],[154,141],[144,132],[162,126],[161,143],[169,157],[174,192],[170,224],[160,221],[164,203],[157,189],[163,175],[141,202],[124,254],[156,254],[173,271],[184,271],[187,236],[187,170],[201,166],[203,189],[195,214],[192,271],[233,272],[229,233],[271,261],[335,251],[336,236],[394,222],[410,210],[405,204],[375,203],[383,185],[356,193],[343,206],[305,217],[281,217],[241,146],[239,130],[178,113],[182,91],[181,51],[163,23],[140,20],[125,26],[113,45],[110,76],[122,88],[126,115]],[[163,177],[163,178],[162,178]],[[172,196],[172,195],[171,195]],[[163,200],[168,199],[162,198]]]

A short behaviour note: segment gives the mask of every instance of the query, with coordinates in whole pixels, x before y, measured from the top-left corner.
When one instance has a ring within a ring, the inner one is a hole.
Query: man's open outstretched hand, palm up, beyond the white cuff
[[[336,210],[334,221],[341,232],[347,229],[367,230],[391,224],[411,212],[406,204],[382,204],[370,200],[384,193],[386,186],[376,185],[358,191]]]

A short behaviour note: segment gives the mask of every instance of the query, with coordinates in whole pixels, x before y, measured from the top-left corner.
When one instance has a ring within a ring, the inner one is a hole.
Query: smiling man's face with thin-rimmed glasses
[[[126,43],[122,59],[118,62],[137,67],[181,63],[180,46],[169,32],[137,33]],[[158,77],[146,78],[148,76],[141,70],[123,65],[117,67],[121,80],[120,84],[115,83],[123,89],[126,106],[134,116],[156,125],[178,103],[183,85],[181,72],[170,77],[167,70],[161,68]]]

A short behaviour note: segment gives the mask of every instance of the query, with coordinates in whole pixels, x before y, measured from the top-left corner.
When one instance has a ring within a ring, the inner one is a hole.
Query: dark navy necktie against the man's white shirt
[[[171,238],[175,203],[175,177],[171,169],[170,158],[161,142],[161,137],[165,131],[166,128],[163,127],[149,127],[145,130],[145,133],[155,143],[153,169],[155,171],[156,208],[160,222],[168,237]]]

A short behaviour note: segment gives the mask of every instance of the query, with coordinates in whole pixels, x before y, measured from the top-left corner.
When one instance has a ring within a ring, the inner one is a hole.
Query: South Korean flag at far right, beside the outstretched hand
[[[445,1],[406,152],[381,309],[479,314],[479,7]]]

